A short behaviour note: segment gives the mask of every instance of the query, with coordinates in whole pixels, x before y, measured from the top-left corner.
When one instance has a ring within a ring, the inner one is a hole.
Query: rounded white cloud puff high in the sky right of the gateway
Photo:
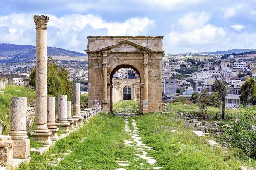
[[[188,13],[184,14],[179,20],[179,25],[185,30],[193,30],[195,28],[201,28],[204,26],[211,18],[211,15],[207,12],[201,13]]]

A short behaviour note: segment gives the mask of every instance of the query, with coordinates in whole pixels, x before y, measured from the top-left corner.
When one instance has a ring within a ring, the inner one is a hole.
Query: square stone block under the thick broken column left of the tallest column
[[[26,159],[30,155],[30,139],[13,139],[13,158]]]

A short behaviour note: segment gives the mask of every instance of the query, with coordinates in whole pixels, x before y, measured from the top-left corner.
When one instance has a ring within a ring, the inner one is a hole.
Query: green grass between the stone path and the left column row
[[[86,170],[113,170],[118,168],[117,160],[127,158],[133,161],[134,150],[124,144],[127,138],[122,117],[100,113],[90,119],[77,132],[71,133],[64,139],[56,142],[46,154],[42,156],[32,153],[31,162],[22,165],[18,170],[77,170],[78,167]],[[80,142],[81,139],[83,142]],[[130,136],[128,136],[130,137]],[[69,150],[73,152],[66,156],[58,166],[48,163],[61,157]],[[131,167],[135,169],[134,166]]]

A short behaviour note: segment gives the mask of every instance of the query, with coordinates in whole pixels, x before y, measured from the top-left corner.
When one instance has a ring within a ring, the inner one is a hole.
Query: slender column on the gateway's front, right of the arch
[[[148,51],[144,53],[144,91],[143,91],[143,113],[148,113]]]

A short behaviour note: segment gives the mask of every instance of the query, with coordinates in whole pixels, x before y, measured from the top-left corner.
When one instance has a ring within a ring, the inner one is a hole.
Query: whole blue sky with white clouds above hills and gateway
[[[35,14],[48,46],[79,52],[89,35],[163,35],[168,54],[256,48],[256,0],[0,0],[0,43],[35,45]]]

